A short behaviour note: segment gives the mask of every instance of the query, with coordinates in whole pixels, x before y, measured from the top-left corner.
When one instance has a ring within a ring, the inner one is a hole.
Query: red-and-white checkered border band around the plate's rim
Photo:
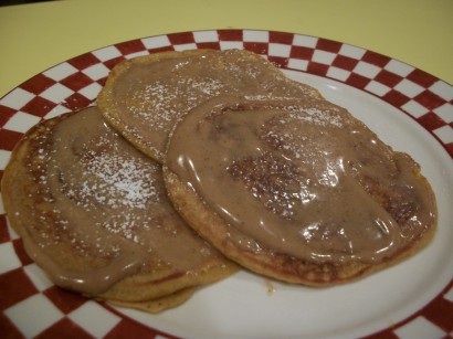
[[[63,62],[0,99],[0,176],[14,145],[42,118],[86,107],[120,61],[162,51],[246,49],[281,68],[336,80],[375,95],[426,129],[453,158],[453,86],[402,62],[340,42],[301,34],[212,30],[150,36],[106,46]],[[7,338],[173,338],[50,283],[23,250],[0,206],[0,332]],[[33,314],[45,307],[45,317]],[[93,314],[96,327],[84,322]],[[29,316],[30,315],[30,316]],[[85,315],[85,316],[82,316]],[[27,326],[18,326],[28,317]],[[426,306],[366,338],[420,332],[453,338],[453,279]]]

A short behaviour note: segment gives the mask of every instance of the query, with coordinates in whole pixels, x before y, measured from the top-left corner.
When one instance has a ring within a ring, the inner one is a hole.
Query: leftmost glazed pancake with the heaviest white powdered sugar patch
[[[236,269],[172,209],[161,166],[96,107],[29,130],[1,191],[27,253],[63,288],[160,310]]]

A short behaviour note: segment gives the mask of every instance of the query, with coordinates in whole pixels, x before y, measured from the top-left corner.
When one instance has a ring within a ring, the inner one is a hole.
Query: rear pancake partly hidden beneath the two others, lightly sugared
[[[175,124],[202,102],[225,94],[320,97],[252,52],[194,50],[120,63],[108,75],[97,104],[108,124],[161,162]]]

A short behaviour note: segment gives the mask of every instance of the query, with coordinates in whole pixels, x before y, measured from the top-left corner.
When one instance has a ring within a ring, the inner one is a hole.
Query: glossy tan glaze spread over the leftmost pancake
[[[31,206],[36,225],[22,232],[24,246],[57,285],[96,295],[134,273],[152,272],[151,254],[176,273],[194,273],[212,258],[211,247],[173,211],[160,166],[107,127],[97,108],[36,138],[27,161],[43,200]],[[21,208],[28,204],[18,204],[18,214]],[[50,256],[62,246],[75,261],[71,269]]]

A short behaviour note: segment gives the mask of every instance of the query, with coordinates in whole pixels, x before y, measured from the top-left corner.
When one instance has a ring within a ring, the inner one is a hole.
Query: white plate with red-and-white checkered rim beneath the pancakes
[[[160,51],[246,49],[317,87],[422,167],[438,199],[433,242],[410,259],[329,288],[240,272],[159,315],[54,286],[0,215],[0,329],[11,338],[441,338],[453,336],[453,87],[388,56],[286,32],[211,30],[149,36],[76,56],[0,99],[0,170],[42,118],[92,105],[120,61]]]

